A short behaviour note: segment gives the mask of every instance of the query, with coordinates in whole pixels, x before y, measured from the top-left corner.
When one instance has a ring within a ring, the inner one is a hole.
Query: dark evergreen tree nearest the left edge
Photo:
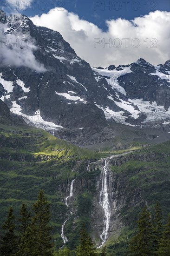
[[[0,255],[2,256],[14,256],[18,249],[17,236],[14,233],[15,216],[13,215],[13,208],[10,207],[8,210],[7,220],[4,222],[3,229],[5,230],[5,235],[2,237]]]

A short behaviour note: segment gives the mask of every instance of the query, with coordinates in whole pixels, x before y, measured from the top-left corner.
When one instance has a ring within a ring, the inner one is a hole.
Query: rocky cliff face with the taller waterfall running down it
[[[78,216],[78,210],[74,207],[74,203],[77,196],[86,191],[93,198],[92,209],[89,213],[91,215],[91,234],[93,240],[100,247],[111,236],[118,236],[122,228],[135,223],[137,218],[135,211],[140,209],[140,206],[144,203],[151,203],[153,199],[150,199],[148,191],[150,191],[151,195],[157,189],[160,190],[159,187],[150,187],[151,183],[154,184],[158,175],[157,170],[153,167],[153,162],[160,164],[161,158],[167,162],[166,159],[169,156],[168,152],[167,154],[155,154],[151,150],[143,149],[138,153],[129,152],[97,162],[86,163],[84,175],[81,170],[81,178],[76,177],[74,179],[73,196],[68,201],[69,209],[71,209],[74,215],[72,221],[76,222],[77,218],[82,217]],[[121,169],[122,166],[129,162],[134,163],[134,166],[131,166],[129,170],[127,169],[128,171],[126,171],[126,168]],[[80,165],[79,163],[76,168],[80,168]],[[106,180],[103,175],[105,169]],[[141,177],[141,181],[138,181],[138,183],[136,182],[137,176]],[[143,179],[145,179],[148,189],[144,187]],[[163,177],[161,182],[166,183]],[[67,194],[69,194],[70,185],[71,183],[67,185]],[[107,198],[104,196],[106,194]]]

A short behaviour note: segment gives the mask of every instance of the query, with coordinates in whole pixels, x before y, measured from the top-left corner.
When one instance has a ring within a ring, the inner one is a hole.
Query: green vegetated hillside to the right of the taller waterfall
[[[170,213],[170,141],[133,152],[111,165],[122,228],[110,237],[106,247],[108,255],[124,256],[144,204],[153,213],[158,201],[163,216]]]

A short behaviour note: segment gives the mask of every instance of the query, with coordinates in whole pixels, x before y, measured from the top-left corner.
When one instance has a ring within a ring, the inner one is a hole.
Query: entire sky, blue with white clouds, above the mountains
[[[11,3],[35,25],[58,31],[91,66],[170,59],[169,0],[1,0],[7,14]]]

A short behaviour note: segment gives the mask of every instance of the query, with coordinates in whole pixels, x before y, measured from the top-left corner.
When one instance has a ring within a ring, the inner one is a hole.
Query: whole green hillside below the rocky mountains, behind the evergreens
[[[26,202],[30,208],[38,190],[44,189],[52,203],[51,223],[57,249],[63,245],[60,235],[65,220],[64,234],[71,249],[78,243],[82,222],[87,224],[93,240],[99,243],[104,217],[99,205],[102,157],[111,152],[94,154],[42,129],[29,127],[18,116],[11,116],[2,101],[0,120],[0,225],[9,206],[13,206],[18,216],[21,203]],[[133,149],[120,156],[116,155],[122,153],[120,150],[114,151],[114,158],[108,160],[111,206],[108,255],[124,255],[144,203],[152,210],[159,201],[163,214],[170,212],[169,141],[143,148],[137,145]],[[70,194],[73,180],[73,196],[68,198],[66,206],[65,198]]]

